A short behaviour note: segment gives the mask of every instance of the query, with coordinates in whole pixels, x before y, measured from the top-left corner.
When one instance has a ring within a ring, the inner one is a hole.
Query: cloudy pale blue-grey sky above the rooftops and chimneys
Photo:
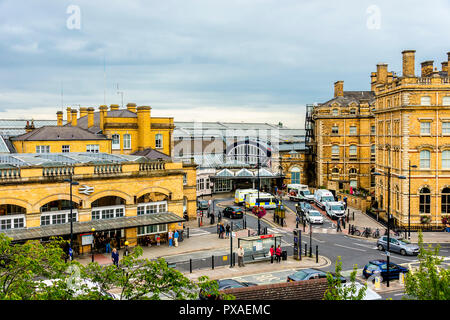
[[[124,104],[175,121],[303,127],[335,81],[369,90],[380,62],[401,73],[404,49],[417,70],[440,67],[449,12],[448,0],[0,0],[0,118],[98,107],[105,88],[121,104],[118,84]]]

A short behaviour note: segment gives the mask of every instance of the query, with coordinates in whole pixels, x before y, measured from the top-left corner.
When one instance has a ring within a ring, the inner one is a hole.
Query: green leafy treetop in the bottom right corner
[[[405,300],[450,300],[450,270],[440,267],[440,246],[425,248],[419,230],[419,267],[405,275]]]

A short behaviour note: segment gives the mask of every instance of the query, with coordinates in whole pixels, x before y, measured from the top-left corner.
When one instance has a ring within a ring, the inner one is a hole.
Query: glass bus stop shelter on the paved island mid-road
[[[274,249],[281,245],[281,233],[238,238],[238,247],[244,249],[244,261],[256,262],[270,260],[270,247]]]

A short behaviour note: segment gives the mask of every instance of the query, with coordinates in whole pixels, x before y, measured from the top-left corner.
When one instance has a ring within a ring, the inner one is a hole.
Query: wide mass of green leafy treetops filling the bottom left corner
[[[13,244],[0,233],[0,299],[103,300],[113,298],[108,291],[116,291],[119,299],[127,300],[190,300],[197,299],[202,289],[219,299],[233,298],[220,294],[217,282],[207,277],[192,281],[169,268],[164,259],[140,258],[139,246],[116,267],[66,262],[64,244],[60,238],[46,244],[38,240]]]

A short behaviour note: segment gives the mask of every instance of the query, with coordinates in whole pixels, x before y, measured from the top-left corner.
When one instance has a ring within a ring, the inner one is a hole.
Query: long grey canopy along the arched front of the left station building
[[[74,222],[73,234],[95,231],[107,231],[123,228],[135,228],[156,224],[184,222],[182,217],[172,212],[145,214],[133,217],[121,217],[114,219],[102,219],[86,222]],[[10,229],[1,231],[13,241],[41,239],[46,237],[63,236],[70,234],[70,223],[42,226],[28,229]]]

